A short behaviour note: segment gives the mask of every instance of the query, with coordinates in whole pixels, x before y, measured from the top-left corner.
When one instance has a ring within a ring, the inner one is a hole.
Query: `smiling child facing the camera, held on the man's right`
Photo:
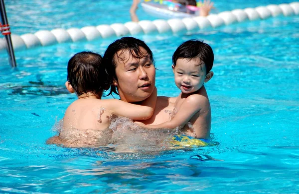
[[[182,43],[172,56],[175,84],[181,90],[174,105],[176,114],[169,122],[146,127],[180,127],[206,141],[210,136],[211,107],[203,84],[213,77],[213,62],[214,54],[208,44],[198,40]]]

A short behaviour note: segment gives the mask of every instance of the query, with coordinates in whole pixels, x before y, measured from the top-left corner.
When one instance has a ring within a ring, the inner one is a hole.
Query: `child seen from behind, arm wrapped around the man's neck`
[[[108,129],[112,115],[134,120],[146,120],[152,116],[156,103],[156,88],[143,102],[143,106],[117,99],[101,100],[103,91],[109,89],[112,81],[99,54],[75,54],[68,62],[67,72],[65,86],[70,93],[76,93],[78,99],[65,111],[59,136],[50,138],[47,143],[63,144],[67,147],[94,146],[93,142],[82,140],[82,137],[95,138],[95,135],[89,133]]]

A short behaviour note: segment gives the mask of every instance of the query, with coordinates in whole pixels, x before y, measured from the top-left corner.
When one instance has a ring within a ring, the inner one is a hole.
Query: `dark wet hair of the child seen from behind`
[[[75,54],[67,64],[67,80],[77,95],[92,92],[98,98],[111,84],[108,73],[102,64],[101,55],[83,51]]]

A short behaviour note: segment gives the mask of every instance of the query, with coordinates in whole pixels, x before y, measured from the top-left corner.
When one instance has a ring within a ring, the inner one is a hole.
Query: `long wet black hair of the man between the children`
[[[147,53],[143,53],[140,47],[144,48]],[[121,52],[118,53],[119,51]],[[107,69],[111,80],[117,81],[117,76],[115,73],[115,68],[117,65],[116,60],[126,63],[126,61],[124,61],[126,60],[124,57],[124,53],[126,51],[129,51],[131,56],[137,59],[147,57],[149,54],[149,59],[154,64],[152,52],[144,41],[133,37],[123,37],[111,43],[104,54],[104,66]],[[112,94],[112,92],[118,94],[115,85],[111,85],[110,93],[108,95]]]

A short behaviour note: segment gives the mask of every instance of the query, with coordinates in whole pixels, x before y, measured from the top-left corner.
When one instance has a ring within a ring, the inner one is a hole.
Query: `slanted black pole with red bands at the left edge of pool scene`
[[[6,43],[7,43],[7,52],[9,55],[9,62],[12,67],[16,67],[15,58],[14,58],[14,52],[12,47],[12,41],[10,37],[10,31],[9,31],[9,24],[7,21],[6,11],[5,11],[5,5],[4,0],[0,0],[0,12],[1,12],[1,20],[2,20],[2,27],[0,26],[2,34],[5,36]]]

